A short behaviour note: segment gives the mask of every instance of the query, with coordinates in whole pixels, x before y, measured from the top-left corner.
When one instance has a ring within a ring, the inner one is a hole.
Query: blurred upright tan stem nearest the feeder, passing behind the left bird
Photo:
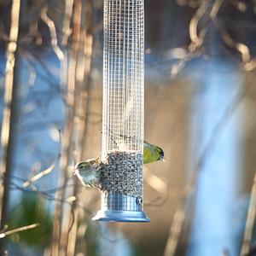
[[[89,117],[90,117],[90,105],[91,105],[91,96],[90,96],[90,89],[91,89],[91,65],[92,65],[92,55],[93,55],[93,11],[94,11],[94,4],[93,1],[89,1],[85,5],[85,11],[87,11],[87,22],[83,30],[81,30],[81,42],[84,43],[84,46],[80,47],[80,51],[84,54],[81,61],[78,62],[77,66],[77,83],[80,84],[80,91],[77,95],[78,98],[78,109],[77,112],[80,116],[84,116],[84,119],[79,119],[77,123],[77,137],[76,137],[76,145],[77,147],[77,155],[76,160],[82,160],[85,155],[85,148],[87,146],[88,140],[88,131],[89,131]],[[78,72],[80,71],[80,72]],[[73,255],[75,253],[75,247],[77,239],[81,239],[81,237],[77,236],[78,234],[78,227],[79,227],[79,180],[76,178],[75,186],[73,189],[73,196],[78,198],[77,201],[73,201],[71,211],[69,212],[69,223],[70,228],[67,232],[67,255]],[[90,200],[90,198],[89,198]],[[82,234],[82,233],[80,233]]]

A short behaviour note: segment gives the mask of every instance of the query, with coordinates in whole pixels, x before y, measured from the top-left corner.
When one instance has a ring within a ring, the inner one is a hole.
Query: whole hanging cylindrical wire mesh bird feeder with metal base
[[[94,220],[148,222],[143,212],[143,0],[104,0],[102,206]]]

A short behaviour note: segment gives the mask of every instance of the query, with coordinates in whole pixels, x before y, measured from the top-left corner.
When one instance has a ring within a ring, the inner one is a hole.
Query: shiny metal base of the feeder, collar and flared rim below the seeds
[[[115,222],[149,222],[143,201],[133,196],[102,192],[102,207],[92,220]]]

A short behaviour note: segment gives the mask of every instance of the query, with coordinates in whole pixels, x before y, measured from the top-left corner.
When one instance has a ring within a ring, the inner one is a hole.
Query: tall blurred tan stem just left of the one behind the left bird
[[[68,0],[67,0],[68,1]],[[72,4],[72,3],[67,3]],[[66,8],[67,11],[67,8]],[[61,178],[60,184],[67,184],[67,168],[69,164],[69,159],[71,157],[71,145],[73,142],[73,131],[74,131],[74,116],[77,108],[77,99],[76,99],[76,68],[77,68],[77,59],[78,59],[78,49],[79,49],[79,40],[80,40],[80,29],[81,29],[81,12],[82,6],[80,0],[74,1],[74,13],[73,13],[73,42],[71,45],[71,59],[67,61],[66,58],[62,61],[62,80],[66,81],[67,76],[67,125],[64,131],[63,136],[63,154],[61,157]],[[67,37],[67,35],[66,35]],[[68,40],[67,38],[65,40]],[[66,62],[67,61],[67,62]],[[68,71],[67,66],[68,65]],[[61,200],[64,199],[66,189],[58,191],[58,197]],[[53,241],[52,241],[52,255],[63,255],[66,254],[67,247],[67,237],[65,237],[62,230],[63,229],[63,215],[64,215],[64,206],[60,203],[57,203],[55,206],[55,217],[54,217],[54,231],[53,231]],[[66,224],[66,223],[65,223]]]

